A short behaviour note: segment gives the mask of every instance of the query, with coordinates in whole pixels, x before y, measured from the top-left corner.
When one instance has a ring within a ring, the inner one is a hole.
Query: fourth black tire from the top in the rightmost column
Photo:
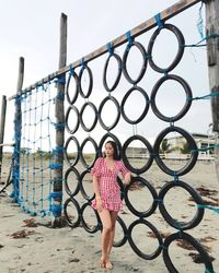
[[[168,213],[168,211],[165,209],[163,199],[164,199],[165,194],[169,192],[169,190],[171,190],[173,187],[180,187],[180,188],[183,188],[184,190],[186,190],[192,195],[193,200],[197,204],[197,212],[196,212],[195,216],[193,217],[193,219],[191,219],[189,222],[177,222],[175,218],[171,217],[171,215]],[[186,229],[191,229],[191,228],[196,227],[201,222],[201,219],[204,217],[205,209],[201,206],[198,206],[198,205],[204,204],[201,197],[198,194],[198,192],[193,187],[191,187],[189,185],[187,185],[184,181],[178,180],[178,181],[166,182],[161,188],[161,190],[159,192],[158,200],[159,200],[159,210],[160,210],[163,218],[166,221],[166,223],[170,226],[172,226],[178,230],[186,230]]]

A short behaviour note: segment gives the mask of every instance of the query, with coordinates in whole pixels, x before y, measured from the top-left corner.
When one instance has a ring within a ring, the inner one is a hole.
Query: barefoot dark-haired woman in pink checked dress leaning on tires
[[[119,161],[115,142],[107,141],[104,157],[99,157],[91,170],[95,193],[92,206],[97,210],[103,225],[100,266],[105,269],[113,269],[110,253],[115,236],[117,214],[123,207],[120,188],[117,183],[118,174],[122,174],[125,183],[130,182],[131,174]]]

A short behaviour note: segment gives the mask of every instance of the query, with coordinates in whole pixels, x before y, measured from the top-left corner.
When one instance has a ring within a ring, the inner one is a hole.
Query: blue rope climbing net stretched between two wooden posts
[[[22,94],[22,119],[14,120],[15,164],[12,198],[31,215],[50,214],[53,192],[56,88],[53,83]],[[19,145],[19,146],[18,146]]]

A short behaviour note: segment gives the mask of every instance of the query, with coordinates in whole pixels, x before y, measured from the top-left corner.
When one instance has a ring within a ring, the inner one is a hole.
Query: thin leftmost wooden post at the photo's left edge
[[[5,112],[7,112],[7,96],[1,97],[1,115],[0,115],[0,144],[3,143],[4,124],[5,124]],[[1,182],[1,165],[3,156],[3,145],[0,145],[0,182]]]

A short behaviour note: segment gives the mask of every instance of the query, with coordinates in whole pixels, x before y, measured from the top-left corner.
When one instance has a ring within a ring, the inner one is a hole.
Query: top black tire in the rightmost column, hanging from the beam
[[[175,36],[176,36],[176,39],[177,39],[177,43],[178,43],[178,50],[177,50],[177,54],[174,58],[174,60],[172,61],[172,63],[168,67],[168,68],[160,68],[158,67],[154,62],[153,62],[153,59],[152,59],[152,50],[153,50],[153,45],[154,45],[154,41],[158,37],[158,35],[160,34],[160,32],[162,32],[162,29],[168,29],[170,32],[172,32]],[[184,36],[182,34],[182,32],[175,26],[175,25],[172,25],[172,24],[163,24],[162,28],[157,28],[154,31],[154,33],[152,34],[150,40],[149,40],[149,44],[148,44],[148,55],[150,56],[149,58],[149,63],[150,63],[150,67],[159,72],[159,73],[168,73],[170,72],[171,70],[173,70],[177,64],[178,62],[181,61],[182,57],[183,57],[183,54],[184,54],[184,49],[185,49],[185,39],[184,39]]]

